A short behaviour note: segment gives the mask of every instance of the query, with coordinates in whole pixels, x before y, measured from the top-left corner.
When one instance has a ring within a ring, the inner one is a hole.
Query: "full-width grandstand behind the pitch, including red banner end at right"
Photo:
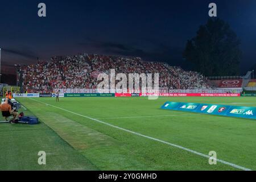
[[[89,55],[54,56],[37,64],[18,65],[20,92],[51,93],[55,89],[96,89],[99,73],[159,73],[159,87],[169,93],[241,93],[256,90],[253,72],[245,76],[205,77],[164,62],[140,57]]]

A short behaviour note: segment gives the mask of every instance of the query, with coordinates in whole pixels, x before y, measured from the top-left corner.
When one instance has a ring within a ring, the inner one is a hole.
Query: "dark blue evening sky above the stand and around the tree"
[[[38,3],[47,17],[38,17]],[[208,5],[241,39],[241,72],[256,63],[256,0],[2,1],[2,65],[35,63],[55,55],[100,53],[141,56],[186,67],[181,53],[207,22]],[[11,67],[3,67],[9,72]]]

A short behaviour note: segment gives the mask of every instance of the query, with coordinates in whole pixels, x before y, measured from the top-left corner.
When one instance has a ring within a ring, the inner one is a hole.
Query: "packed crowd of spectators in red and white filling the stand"
[[[23,65],[19,82],[28,92],[49,92],[54,88],[96,88],[99,73],[159,73],[159,87],[169,89],[209,88],[208,80],[197,72],[187,72],[167,63],[143,61],[139,57],[81,54],[55,56],[51,61]],[[128,76],[127,76],[128,78]]]

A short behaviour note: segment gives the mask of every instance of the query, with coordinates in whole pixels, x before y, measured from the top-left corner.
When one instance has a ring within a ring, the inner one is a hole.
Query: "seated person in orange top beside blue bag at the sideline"
[[[5,98],[5,102],[0,105],[0,110],[2,111],[2,116],[5,117],[6,121],[11,115],[13,115],[13,119],[11,119],[12,124],[18,121],[18,113],[11,108],[11,102],[9,102],[9,98]]]

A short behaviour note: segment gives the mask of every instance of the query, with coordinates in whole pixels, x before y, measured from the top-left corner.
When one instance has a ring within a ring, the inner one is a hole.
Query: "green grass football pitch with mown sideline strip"
[[[256,106],[255,97],[18,101],[40,124],[0,124],[0,170],[239,170],[221,162],[210,165],[200,155],[119,128],[205,155],[216,151],[218,159],[256,170],[255,120],[159,109],[166,101]],[[38,164],[39,151],[46,151],[46,165]]]

